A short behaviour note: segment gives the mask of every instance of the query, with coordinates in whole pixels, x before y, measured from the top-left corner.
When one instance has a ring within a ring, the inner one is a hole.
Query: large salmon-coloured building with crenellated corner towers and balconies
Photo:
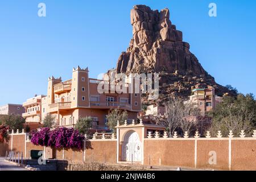
[[[62,81],[61,77],[49,77],[47,96],[39,98],[35,106],[27,109],[31,112],[34,108],[34,114],[38,115],[33,121],[43,121],[46,114],[55,116],[56,126],[73,127],[80,117],[92,117],[93,130],[107,129],[106,115],[113,109],[126,110],[129,120],[137,119],[141,111],[141,94],[99,93],[101,81],[89,78],[88,68],[80,67],[73,68],[72,78],[67,81]],[[30,121],[28,118],[26,121]]]

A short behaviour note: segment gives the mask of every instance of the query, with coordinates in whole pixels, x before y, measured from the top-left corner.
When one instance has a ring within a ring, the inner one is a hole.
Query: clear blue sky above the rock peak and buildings
[[[46,17],[38,4],[46,3]],[[217,17],[208,16],[210,2]],[[256,1],[242,0],[9,0],[0,2],[0,105],[46,94],[48,76],[90,77],[114,68],[132,38],[134,5],[171,11],[171,22],[219,84],[256,95]]]

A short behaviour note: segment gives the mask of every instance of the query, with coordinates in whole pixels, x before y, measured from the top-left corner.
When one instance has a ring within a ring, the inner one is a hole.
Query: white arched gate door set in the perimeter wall
[[[142,161],[142,143],[139,135],[135,131],[125,135],[122,144],[122,161],[141,162]]]

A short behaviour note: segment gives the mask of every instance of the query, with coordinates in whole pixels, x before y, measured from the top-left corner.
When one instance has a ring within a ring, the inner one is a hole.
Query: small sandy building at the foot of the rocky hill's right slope
[[[192,87],[192,96],[189,97],[189,102],[195,103],[205,115],[208,111],[215,109],[216,105],[221,102],[221,97],[215,95],[213,86],[197,84]]]

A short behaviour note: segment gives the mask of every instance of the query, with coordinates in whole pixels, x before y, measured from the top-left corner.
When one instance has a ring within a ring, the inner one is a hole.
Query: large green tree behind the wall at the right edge
[[[235,137],[239,137],[241,130],[245,130],[247,136],[256,128],[256,101],[253,94],[238,94],[237,98],[224,96],[222,103],[209,113],[212,116],[210,132],[216,135],[220,130],[227,136],[229,130]]]

